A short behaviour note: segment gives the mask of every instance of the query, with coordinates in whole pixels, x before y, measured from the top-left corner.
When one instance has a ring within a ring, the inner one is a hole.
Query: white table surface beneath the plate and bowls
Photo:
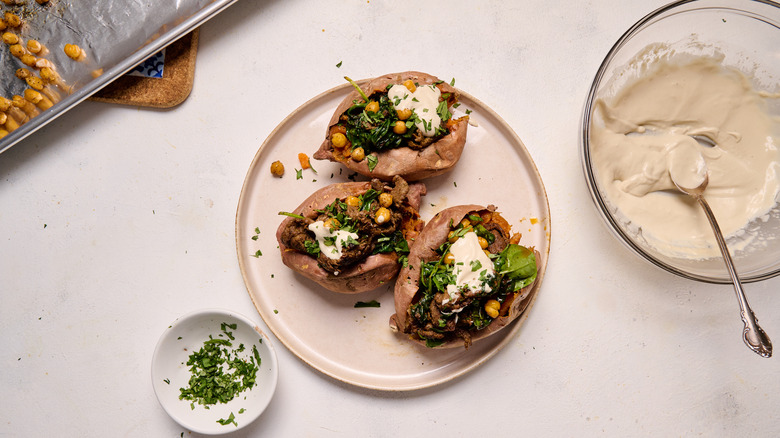
[[[158,404],[152,353],[196,309],[266,328],[235,244],[256,151],[344,75],[409,69],[456,78],[533,156],[552,216],[539,298],[495,357],[420,391],[340,383],[276,342],[276,395],[234,436],[776,436],[780,359],[743,344],[731,286],[630,253],[584,184],[590,82],[664,3],[241,0],[201,27],[180,106],[84,102],[1,154],[0,436],[196,435]],[[776,343],[778,289],[746,287]]]

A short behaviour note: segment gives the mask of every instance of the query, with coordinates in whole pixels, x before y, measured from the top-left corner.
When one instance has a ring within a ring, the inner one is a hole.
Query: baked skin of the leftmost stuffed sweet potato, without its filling
[[[371,183],[368,181],[331,184],[312,193],[292,213],[315,218],[318,215],[317,210],[325,208],[334,200],[343,200],[350,195],[359,196],[370,187]],[[410,207],[418,210],[421,196],[425,195],[425,193],[426,188],[424,184],[409,184],[407,201]],[[276,230],[276,240],[279,244],[282,263],[328,290],[344,294],[373,290],[391,281],[400,269],[400,264],[395,254],[373,254],[363,262],[341,271],[339,275],[333,275],[322,269],[313,257],[292,250],[284,244],[281,238],[282,232],[293,220],[291,217],[286,217]],[[422,225],[422,221],[420,221],[420,225]],[[419,229],[408,230],[405,237],[407,239],[415,237],[417,232],[419,232]]]

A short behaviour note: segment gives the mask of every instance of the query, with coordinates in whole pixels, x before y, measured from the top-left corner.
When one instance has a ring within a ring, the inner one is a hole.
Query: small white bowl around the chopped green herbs
[[[222,323],[237,325],[228,331],[235,337],[231,341],[233,348],[244,344],[240,357],[248,358],[252,346],[257,347],[260,369],[256,385],[228,403],[209,405],[208,409],[194,403],[193,409],[190,400],[179,399],[180,388],[189,386],[187,361],[194,351],[203,347],[209,335],[218,338],[222,334],[221,338],[227,339]],[[227,310],[199,310],[176,319],[160,337],[152,356],[152,387],[165,412],[188,430],[208,435],[234,432],[257,419],[271,402],[278,376],[276,352],[268,337],[247,317]],[[228,419],[231,413],[237,425],[222,425],[217,421]]]

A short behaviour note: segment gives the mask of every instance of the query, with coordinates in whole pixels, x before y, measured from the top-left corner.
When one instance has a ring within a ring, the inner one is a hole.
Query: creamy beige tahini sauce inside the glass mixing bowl
[[[696,58],[658,60],[614,99],[597,101],[603,124],[592,126],[592,160],[620,220],[666,255],[718,257],[706,217],[670,173],[687,188],[708,175],[704,197],[722,231],[747,246],[746,225],[775,206],[780,188],[780,129],[765,97],[718,59]]]

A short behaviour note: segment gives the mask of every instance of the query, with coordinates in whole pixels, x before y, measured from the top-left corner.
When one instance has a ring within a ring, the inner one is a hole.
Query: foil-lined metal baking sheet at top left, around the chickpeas
[[[14,33],[23,47],[30,39],[40,42],[46,50],[33,55],[44,59],[39,65],[55,69],[61,82],[47,85],[54,92],[49,95],[59,98],[54,106],[39,109],[38,114],[28,116],[0,139],[0,152],[236,1],[49,0],[40,4],[36,0],[14,0],[9,2],[16,4],[8,5],[3,0],[0,15],[11,12],[21,18],[22,25],[7,26],[0,33]],[[17,69],[26,68],[39,76],[41,67],[23,64],[11,54],[9,44],[0,44],[0,96],[23,96],[29,86],[16,76]],[[83,49],[84,58],[69,58],[63,50],[66,44]],[[16,114],[19,116],[19,112]]]

